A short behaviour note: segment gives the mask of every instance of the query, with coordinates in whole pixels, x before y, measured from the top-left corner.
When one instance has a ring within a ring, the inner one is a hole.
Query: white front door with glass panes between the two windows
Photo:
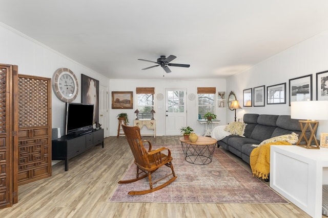
[[[165,135],[180,135],[187,126],[186,89],[166,89]]]

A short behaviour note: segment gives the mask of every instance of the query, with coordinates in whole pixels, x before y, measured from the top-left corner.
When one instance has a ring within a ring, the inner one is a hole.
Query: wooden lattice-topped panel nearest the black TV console
[[[18,185],[51,176],[51,79],[18,75]]]

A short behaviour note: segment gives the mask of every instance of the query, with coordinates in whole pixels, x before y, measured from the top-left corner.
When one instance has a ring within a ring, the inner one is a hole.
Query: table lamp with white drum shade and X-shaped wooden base
[[[302,133],[296,143],[297,146],[305,149],[320,149],[315,136],[319,122],[317,120],[328,119],[328,101],[300,101],[291,102],[291,118],[299,120]],[[306,131],[310,130],[310,137],[307,138]],[[306,144],[300,144],[304,138]],[[311,145],[314,141],[314,145]]]

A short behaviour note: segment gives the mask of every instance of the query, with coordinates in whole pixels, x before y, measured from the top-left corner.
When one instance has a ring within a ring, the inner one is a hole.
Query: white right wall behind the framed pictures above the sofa
[[[265,85],[267,90],[267,86],[285,82],[286,104],[267,105],[265,101],[265,107],[245,107],[237,110],[237,117],[242,117],[244,113],[290,115],[289,79],[312,74],[313,100],[316,100],[316,73],[325,70],[328,70],[328,31],[290,47],[238,75],[229,77],[227,89],[234,91],[237,100],[242,104],[243,89]],[[267,94],[265,94],[266,99]],[[228,113],[227,120],[233,121],[233,117]],[[328,132],[327,121],[319,122],[318,139],[320,132]]]

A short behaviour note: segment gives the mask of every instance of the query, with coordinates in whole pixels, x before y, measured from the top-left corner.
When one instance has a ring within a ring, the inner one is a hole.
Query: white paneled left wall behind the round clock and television
[[[57,53],[49,47],[32,38],[15,31],[0,22],[0,63],[18,66],[18,74],[52,78],[56,69],[65,67],[71,69],[81,86],[81,74],[99,80],[99,84],[108,87],[109,79],[97,72]],[[76,103],[81,102],[79,91]],[[52,127],[60,127],[64,134],[65,103],[58,100],[52,91]],[[105,132],[105,135],[108,135]]]

